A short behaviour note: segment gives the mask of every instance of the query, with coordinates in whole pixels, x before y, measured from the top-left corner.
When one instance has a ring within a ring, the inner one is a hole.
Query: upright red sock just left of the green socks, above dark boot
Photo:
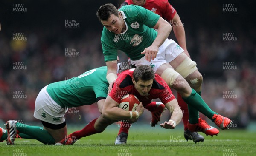
[[[184,130],[188,129],[188,120],[189,120],[189,110],[188,110],[188,105],[186,102],[182,99],[181,95],[178,93],[178,104],[180,106],[180,109],[183,112],[183,125],[184,125]]]

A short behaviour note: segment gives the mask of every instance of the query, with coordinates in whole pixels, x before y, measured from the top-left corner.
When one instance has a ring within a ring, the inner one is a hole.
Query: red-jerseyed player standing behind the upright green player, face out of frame
[[[186,48],[186,35],[185,35],[183,23],[181,22],[180,17],[177,14],[176,10],[168,2],[168,0],[125,0],[125,2],[122,3],[121,6],[130,5],[130,4],[142,6],[145,9],[151,10],[155,14],[160,15],[161,17],[163,17],[163,19],[171,23],[178,44],[180,45],[181,48],[183,48],[184,54],[190,57],[189,52],[187,51],[187,48]],[[197,93],[201,95],[202,80],[197,79],[197,81],[192,81],[192,82],[191,80],[193,79],[196,80],[195,79],[196,75],[200,75],[200,77],[202,78],[202,75],[199,73],[198,70],[193,71],[189,74],[191,75],[184,78],[189,82],[189,85],[191,86],[191,88],[195,89],[195,91],[197,91]],[[186,138],[186,140],[193,140],[195,143],[203,142],[204,136],[198,134],[197,132],[191,132],[188,129],[188,126],[187,126],[188,120],[189,120],[188,106],[186,102],[184,102],[184,100],[181,98],[180,94],[178,93],[177,95],[178,95],[177,96],[178,104],[180,105],[180,108],[183,112],[182,120],[184,125],[184,137]],[[163,112],[163,106],[158,104],[154,107],[155,108],[157,107],[157,109],[155,110],[154,113],[152,113],[152,120],[156,121],[154,123],[157,123],[160,120],[160,116],[159,115],[157,116],[157,114]],[[129,128],[127,128],[127,126],[126,127],[121,126],[118,136],[116,137],[116,144],[124,143],[124,141],[122,140],[125,140],[125,139],[122,136],[124,136],[126,133],[128,134]],[[122,136],[119,136],[120,134],[122,134]],[[122,140],[120,140],[121,138]]]

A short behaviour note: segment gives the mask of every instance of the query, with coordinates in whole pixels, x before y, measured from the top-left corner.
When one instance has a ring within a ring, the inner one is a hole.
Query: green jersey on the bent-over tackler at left
[[[78,77],[51,83],[47,86],[47,92],[62,108],[91,105],[96,102],[96,98],[107,97],[106,74],[106,66],[95,68]]]

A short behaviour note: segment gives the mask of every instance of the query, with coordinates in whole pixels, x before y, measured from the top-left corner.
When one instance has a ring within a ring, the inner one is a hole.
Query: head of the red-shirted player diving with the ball
[[[140,65],[134,69],[132,82],[141,96],[146,96],[150,91],[155,78],[154,70],[148,65]]]

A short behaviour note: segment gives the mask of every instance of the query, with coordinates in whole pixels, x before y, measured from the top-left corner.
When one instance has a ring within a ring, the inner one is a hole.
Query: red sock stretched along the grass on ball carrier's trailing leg
[[[92,134],[101,133],[95,130],[94,124],[98,118],[92,120],[88,125],[86,125],[82,130],[78,130],[70,134],[71,136],[75,136],[74,138],[80,139],[85,136],[90,136]]]

